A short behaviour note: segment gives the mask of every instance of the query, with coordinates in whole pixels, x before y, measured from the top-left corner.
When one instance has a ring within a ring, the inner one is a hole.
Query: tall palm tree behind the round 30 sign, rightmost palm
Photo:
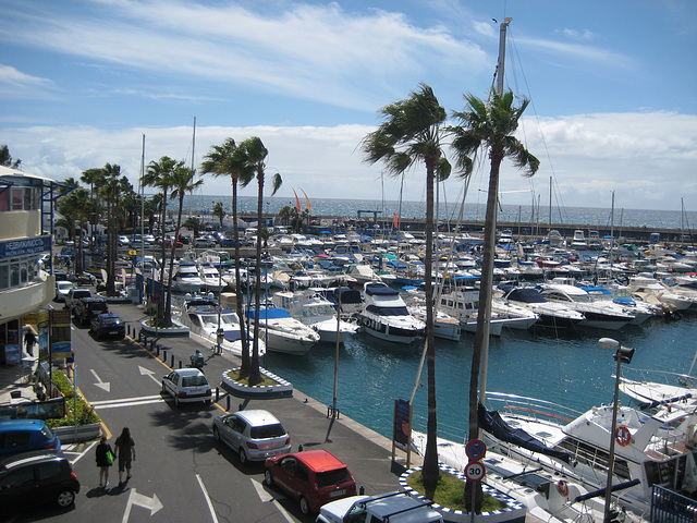
[[[452,146],[456,151],[457,167],[465,175],[473,171],[477,154],[488,153],[490,160],[489,171],[489,195],[487,198],[487,216],[485,221],[484,240],[484,266],[481,270],[481,282],[479,289],[479,303],[485,304],[477,316],[477,331],[475,335],[475,346],[472,355],[472,370],[469,378],[469,438],[478,437],[479,424],[477,421],[477,408],[484,398],[479,398],[479,373],[481,366],[485,341],[489,336],[485,324],[489,321],[491,303],[491,292],[493,285],[493,257],[496,244],[497,227],[497,199],[499,194],[499,171],[501,162],[509,157],[515,167],[524,169],[527,177],[531,177],[539,168],[539,160],[533,156],[525,146],[513,134],[518,127],[518,120],[525,111],[528,100],[523,99],[518,107],[513,105],[514,96],[512,92],[503,95],[492,93],[492,100],[484,102],[474,95],[466,95],[467,106],[462,112],[454,112],[453,117],[460,120],[460,124],[450,129],[453,133]],[[486,329],[486,330],[485,330]],[[472,486],[474,483],[474,486]],[[480,508],[481,484],[479,482],[467,482],[465,488],[465,502],[472,500],[470,489],[477,488],[475,511]]]

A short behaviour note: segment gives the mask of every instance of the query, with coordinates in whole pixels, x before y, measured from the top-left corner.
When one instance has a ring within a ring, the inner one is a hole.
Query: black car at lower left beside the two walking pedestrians
[[[68,458],[56,450],[23,452],[0,461],[0,512],[35,504],[75,502],[80,482]]]

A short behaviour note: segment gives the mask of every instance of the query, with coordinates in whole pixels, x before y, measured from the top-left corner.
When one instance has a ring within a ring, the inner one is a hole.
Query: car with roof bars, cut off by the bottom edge
[[[316,523],[442,523],[443,516],[407,494],[394,491],[377,496],[353,496],[331,501],[321,509]]]

